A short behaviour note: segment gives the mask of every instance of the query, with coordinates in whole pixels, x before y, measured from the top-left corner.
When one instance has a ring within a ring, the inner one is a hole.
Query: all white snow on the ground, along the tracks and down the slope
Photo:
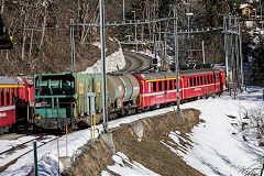
[[[260,165],[260,157],[263,156],[263,147],[257,146],[257,141],[253,135],[243,140],[246,131],[241,130],[241,118],[246,111],[254,108],[264,107],[262,98],[263,88],[249,87],[246,91],[238,96],[234,100],[227,94],[220,98],[209,98],[197,100],[182,105],[183,109],[195,108],[201,111],[200,118],[205,123],[195,127],[190,134],[184,136],[179,131],[172,131],[167,135],[170,141],[161,141],[164,147],[168,147],[172,153],[183,157],[183,160],[191,167],[198,169],[205,175],[241,175],[244,169],[253,164]],[[118,119],[109,122],[109,128],[120,127],[122,123],[131,123],[133,121],[154,117],[157,114],[174,111],[175,107],[158,109],[155,111],[140,113],[123,119]],[[231,119],[228,116],[238,117]],[[237,123],[237,125],[234,125]],[[102,125],[96,127],[96,138],[102,132]],[[252,133],[253,134],[253,133]],[[37,141],[37,145],[54,139]],[[29,141],[31,138],[21,138],[18,141],[0,140],[1,150],[3,147],[14,146],[16,143]],[[77,131],[68,135],[68,156],[75,158],[80,153],[79,147],[84,146],[89,140],[90,129]],[[58,148],[57,151],[57,141]],[[191,141],[191,142],[190,142]],[[23,154],[25,151],[32,148],[30,144],[23,150],[16,151],[6,157],[0,158],[0,163],[7,163],[10,158]],[[66,156],[66,136],[54,140],[46,145],[37,148],[38,172],[41,175],[57,175],[58,165],[59,172],[63,172],[65,166],[62,162],[58,163],[59,157]],[[108,166],[108,169],[119,175],[158,175],[145,168],[136,161],[131,161],[125,154],[117,153],[112,156],[114,165]],[[2,164],[1,164],[2,166]],[[23,176],[33,175],[33,152],[24,155],[18,160],[13,165],[10,165],[6,170],[0,173],[0,176]],[[107,170],[101,172],[102,176],[110,176]]]

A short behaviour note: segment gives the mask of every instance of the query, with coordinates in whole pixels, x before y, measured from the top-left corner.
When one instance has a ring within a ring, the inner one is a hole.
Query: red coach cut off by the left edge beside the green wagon
[[[0,132],[9,131],[18,120],[29,119],[28,105],[34,105],[33,82],[22,77],[0,76]]]

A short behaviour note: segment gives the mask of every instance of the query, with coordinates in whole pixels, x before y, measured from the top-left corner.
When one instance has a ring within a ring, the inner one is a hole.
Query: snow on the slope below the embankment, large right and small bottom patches
[[[245,114],[252,110],[261,108],[262,111],[264,110],[262,90],[263,88],[251,87],[241,94],[238,100],[226,94],[220,98],[202,99],[183,105],[184,109],[200,110],[200,118],[205,120],[205,123],[195,127],[188,140],[182,138],[179,131],[175,131],[168,134],[174,142],[161,141],[161,143],[205,175],[261,174],[264,163],[264,148],[258,146],[261,139],[255,138],[254,129],[244,128],[242,130],[242,124],[249,122],[249,119],[243,117],[246,117]],[[135,167],[136,161],[129,163],[130,167],[128,167],[128,164],[122,164],[128,158],[123,162],[121,156],[118,158],[120,160],[113,155],[112,160],[116,164],[108,166],[109,170],[119,175],[130,175],[125,173],[153,174],[146,172],[144,167],[141,169]],[[134,170],[131,172],[131,169]],[[111,174],[103,170],[102,175],[110,176]]]

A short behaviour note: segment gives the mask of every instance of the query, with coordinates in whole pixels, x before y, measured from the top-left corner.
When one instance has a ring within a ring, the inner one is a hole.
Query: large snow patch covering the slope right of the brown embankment
[[[168,135],[174,141],[173,144],[164,141],[162,143],[205,175],[241,175],[253,164],[261,165],[264,148],[257,146],[255,141],[244,142],[241,128],[231,124],[238,123],[239,117],[251,109],[264,106],[261,90],[250,88],[239,96],[239,100],[223,96],[183,105],[183,108],[199,109],[206,125],[200,123],[193,129],[190,140],[195,145],[184,146],[186,153],[183,153],[179,142],[183,138],[177,133],[170,132]],[[238,118],[233,120],[228,116]],[[180,150],[174,147],[175,144]]]

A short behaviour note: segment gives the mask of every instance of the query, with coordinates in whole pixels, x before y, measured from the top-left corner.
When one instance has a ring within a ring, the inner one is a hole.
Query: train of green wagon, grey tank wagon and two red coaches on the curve
[[[179,73],[179,100],[220,95],[224,73],[217,68],[187,69]],[[176,74],[173,72],[108,74],[107,108],[109,119],[175,105]],[[102,121],[102,75],[34,75],[34,116],[32,123],[41,129],[65,130],[66,125]]]

